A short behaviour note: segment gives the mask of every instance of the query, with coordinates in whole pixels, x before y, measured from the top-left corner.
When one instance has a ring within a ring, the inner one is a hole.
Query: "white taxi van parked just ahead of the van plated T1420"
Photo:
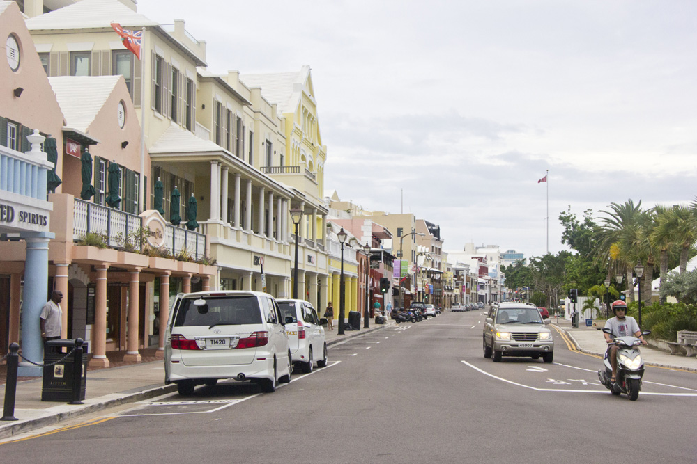
[[[312,372],[316,360],[317,367],[327,365],[327,338],[322,323],[312,303],[305,300],[277,300],[286,323],[288,343],[293,364],[300,365],[305,374]]]

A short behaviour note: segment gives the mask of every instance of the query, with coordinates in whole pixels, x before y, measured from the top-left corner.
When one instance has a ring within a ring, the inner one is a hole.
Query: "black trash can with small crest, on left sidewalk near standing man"
[[[65,348],[65,350],[63,350]],[[75,353],[58,364],[66,354],[75,348],[75,340],[49,340],[44,345],[43,384],[41,401],[61,401],[68,403],[73,400],[72,386],[75,381]],[[85,399],[87,383],[87,343],[82,344],[82,374],[80,376],[80,399]],[[63,353],[65,351],[65,353]]]

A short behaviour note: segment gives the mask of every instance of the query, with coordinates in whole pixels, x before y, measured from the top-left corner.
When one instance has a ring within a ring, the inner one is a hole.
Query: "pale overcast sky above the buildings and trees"
[[[138,6],[185,19],[213,72],[312,67],[326,189],[445,250],[546,253],[548,188],[551,253],[569,205],[697,196],[695,1],[192,3]]]

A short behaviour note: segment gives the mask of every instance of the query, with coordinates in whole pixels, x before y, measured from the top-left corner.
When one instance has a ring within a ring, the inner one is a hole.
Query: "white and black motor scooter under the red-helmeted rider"
[[[603,329],[604,333],[613,335],[609,328]],[[641,335],[649,335],[651,330],[644,330]],[[613,395],[626,393],[631,401],[636,401],[641,390],[641,378],[644,376],[644,361],[641,359],[638,346],[641,339],[633,335],[616,337],[613,343],[618,346],[617,350],[617,378],[611,382],[612,365],[610,363],[610,349],[605,351],[603,362],[605,369],[598,371],[600,383],[610,390]]]

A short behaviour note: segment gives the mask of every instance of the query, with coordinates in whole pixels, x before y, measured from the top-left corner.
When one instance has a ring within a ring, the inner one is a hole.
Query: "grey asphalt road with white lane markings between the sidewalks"
[[[695,462],[697,376],[648,367],[638,401],[602,360],[482,355],[482,312],[445,313],[332,346],[273,394],[201,386],[0,444],[3,463]]]

